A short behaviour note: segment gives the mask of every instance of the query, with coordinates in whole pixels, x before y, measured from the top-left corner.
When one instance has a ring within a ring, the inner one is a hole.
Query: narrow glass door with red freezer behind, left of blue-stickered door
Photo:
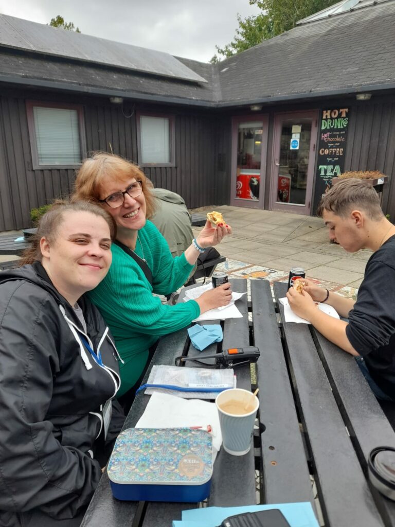
[[[267,116],[233,120],[232,204],[263,207],[267,131]]]

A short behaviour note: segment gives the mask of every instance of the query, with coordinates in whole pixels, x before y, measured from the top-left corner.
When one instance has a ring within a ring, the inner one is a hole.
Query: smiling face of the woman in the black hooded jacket
[[[56,289],[74,305],[110,268],[110,229],[91,212],[66,211],[62,219],[53,239],[41,239],[42,265]]]

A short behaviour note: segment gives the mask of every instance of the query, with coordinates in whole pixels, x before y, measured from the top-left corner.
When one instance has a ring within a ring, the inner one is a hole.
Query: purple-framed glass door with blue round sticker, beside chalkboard
[[[317,112],[274,118],[271,210],[310,214]]]

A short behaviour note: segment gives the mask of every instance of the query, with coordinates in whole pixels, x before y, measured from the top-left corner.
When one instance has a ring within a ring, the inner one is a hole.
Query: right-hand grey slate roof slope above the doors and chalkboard
[[[223,103],[395,87],[395,2],[299,25],[235,55],[221,62],[220,85]]]

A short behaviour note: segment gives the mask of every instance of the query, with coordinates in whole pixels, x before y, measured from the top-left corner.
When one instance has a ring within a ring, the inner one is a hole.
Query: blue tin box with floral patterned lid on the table
[[[212,471],[211,435],[190,428],[128,428],[107,467],[114,497],[133,501],[202,501]]]

